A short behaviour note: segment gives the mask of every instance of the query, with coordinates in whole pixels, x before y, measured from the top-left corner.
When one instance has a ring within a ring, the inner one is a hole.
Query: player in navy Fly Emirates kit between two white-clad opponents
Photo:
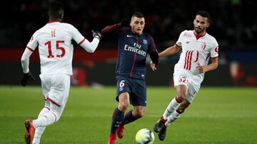
[[[151,35],[143,33],[144,26],[143,14],[135,12],[130,22],[124,20],[101,30],[103,35],[116,34],[119,40],[116,63],[116,101],[119,105],[112,116],[109,144],[116,143],[116,135],[123,138],[124,125],[141,118],[146,109],[146,56],[149,54],[152,62],[158,64],[158,52]],[[124,116],[129,103],[133,109]]]

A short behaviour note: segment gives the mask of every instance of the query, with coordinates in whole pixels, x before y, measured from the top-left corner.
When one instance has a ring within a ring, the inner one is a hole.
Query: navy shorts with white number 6
[[[132,106],[146,106],[146,82],[144,79],[118,75],[116,76],[116,82],[116,101],[119,101],[121,93],[128,92]]]

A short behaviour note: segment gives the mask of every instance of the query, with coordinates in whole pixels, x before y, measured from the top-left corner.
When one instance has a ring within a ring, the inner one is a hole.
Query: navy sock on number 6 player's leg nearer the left
[[[118,108],[114,109],[113,117],[111,120],[111,133],[116,133],[121,121],[124,119],[124,112]]]

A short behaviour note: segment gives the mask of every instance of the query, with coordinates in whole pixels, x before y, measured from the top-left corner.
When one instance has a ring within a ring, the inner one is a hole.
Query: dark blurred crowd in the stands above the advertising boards
[[[51,1],[51,0],[50,0]],[[91,29],[130,19],[134,11],[146,18],[144,32],[153,35],[158,49],[176,43],[179,33],[193,29],[197,11],[211,13],[213,35],[225,50],[254,48],[257,41],[257,13],[255,0],[63,0],[64,22],[71,23],[89,40]],[[6,1],[1,7],[0,48],[24,48],[31,35],[44,26],[49,1]],[[101,48],[116,48],[116,39],[104,37]]]

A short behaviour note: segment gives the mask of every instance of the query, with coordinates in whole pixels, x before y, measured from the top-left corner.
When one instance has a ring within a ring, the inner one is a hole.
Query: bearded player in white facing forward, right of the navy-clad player
[[[198,11],[193,26],[193,31],[183,31],[179,35],[175,45],[158,53],[160,57],[165,57],[176,54],[182,49],[173,73],[176,96],[153,126],[160,140],[166,137],[167,126],[176,121],[192,103],[200,89],[204,73],[218,67],[218,43],[213,36],[206,33],[206,28],[210,26],[210,14],[206,11]],[[211,62],[208,64],[210,58]],[[151,68],[156,70],[153,62],[151,62]]]

